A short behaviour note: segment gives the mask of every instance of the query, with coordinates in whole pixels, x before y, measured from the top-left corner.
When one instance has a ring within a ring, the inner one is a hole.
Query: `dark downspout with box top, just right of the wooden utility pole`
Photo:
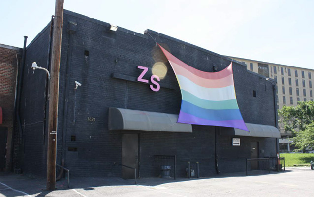
[[[71,59],[73,52],[73,34],[76,33],[76,23],[68,23],[68,33],[69,33],[69,43],[68,43],[68,52],[67,52],[67,62],[66,62],[66,81],[65,81],[65,96],[63,104],[63,126],[62,126],[62,145],[61,145],[61,166],[64,167],[65,163],[65,145],[66,145],[66,131],[67,131],[67,111],[68,111],[68,100],[69,100],[69,86],[70,86],[70,71],[71,71]],[[59,181],[63,175],[63,167],[60,170],[56,181]]]

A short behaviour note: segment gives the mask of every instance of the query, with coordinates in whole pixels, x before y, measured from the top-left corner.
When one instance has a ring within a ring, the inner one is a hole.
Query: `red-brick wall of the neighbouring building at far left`
[[[8,132],[6,139],[6,171],[11,170],[16,72],[21,56],[21,48],[0,44],[0,106],[3,110],[1,127],[7,127]],[[3,142],[3,139],[1,139],[1,143]]]

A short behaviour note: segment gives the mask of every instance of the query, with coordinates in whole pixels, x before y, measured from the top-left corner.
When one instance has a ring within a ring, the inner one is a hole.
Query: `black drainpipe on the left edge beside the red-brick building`
[[[21,67],[19,68],[19,77],[18,77],[18,90],[17,90],[17,97],[16,97],[16,120],[19,127],[19,133],[20,133],[20,144],[22,144],[23,139],[23,129],[22,129],[22,123],[21,123],[21,117],[20,117],[20,102],[21,102],[21,89],[22,89],[22,80],[23,80],[23,72],[24,72],[24,65],[25,65],[25,54],[26,54],[26,41],[27,36],[24,36],[24,46],[23,46],[23,53],[22,53],[22,63]]]

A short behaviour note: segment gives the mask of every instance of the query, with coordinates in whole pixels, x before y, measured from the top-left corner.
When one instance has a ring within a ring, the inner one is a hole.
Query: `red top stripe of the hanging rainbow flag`
[[[193,73],[193,74],[195,74],[195,75],[197,75],[199,77],[202,77],[202,78],[206,78],[206,79],[221,79],[221,78],[224,78],[224,77],[230,75],[230,71],[229,70],[230,69],[232,70],[232,67],[228,66],[228,67],[226,67],[225,69],[223,69],[223,70],[221,70],[219,72],[204,72],[204,71],[195,69],[195,68],[193,68],[191,66],[188,66],[186,63],[182,62],[181,60],[179,60],[178,58],[173,56],[171,53],[169,53],[167,50],[165,50],[161,46],[160,46],[160,48],[163,51],[163,53],[165,54],[165,56],[167,57],[167,59],[169,60],[170,64],[171,64],[171,62],[174,62],[177,65],[180,65],[181,67],[184,67],[189,72],[191,72],[191,73]]]

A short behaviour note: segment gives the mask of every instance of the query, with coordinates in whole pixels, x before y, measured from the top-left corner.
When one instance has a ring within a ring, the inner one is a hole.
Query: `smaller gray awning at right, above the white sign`
[[[250,132],[234,128],[234,135],[248,136],[248,137],[280,138],[280,132],[274,126],[259,125],[259,124],[252,124],[252,123],[246,123],[246,125]]]

